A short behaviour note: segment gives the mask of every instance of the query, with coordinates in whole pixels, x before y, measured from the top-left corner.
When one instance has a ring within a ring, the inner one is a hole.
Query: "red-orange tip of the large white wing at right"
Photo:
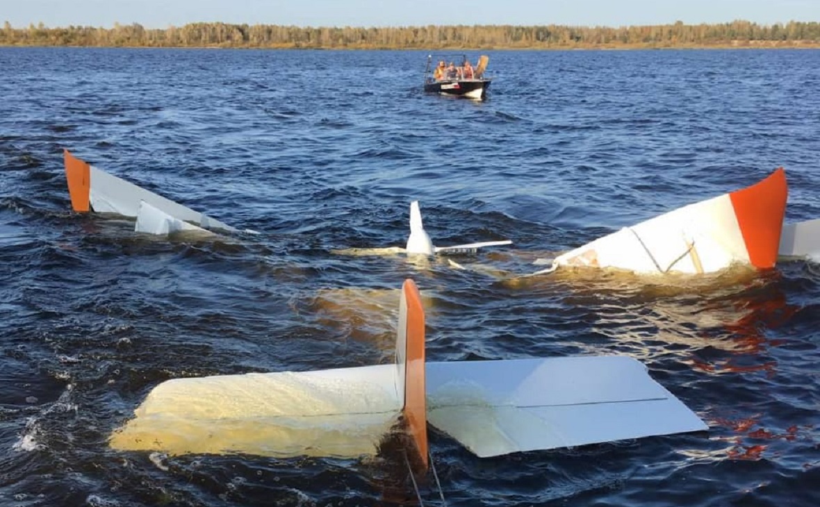
[[[786,171],[780,167],[763,181],[729,194],[755,268],[768,269],[777,263],[788,192]]]

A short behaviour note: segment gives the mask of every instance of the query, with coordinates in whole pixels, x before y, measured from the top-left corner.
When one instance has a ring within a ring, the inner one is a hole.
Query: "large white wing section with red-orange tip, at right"
[[[639,274],[702,274],[745,264],[774,267],[786,211],[786,173],[736,192],[683,206],[556,257],[561,266],[617,268]]]

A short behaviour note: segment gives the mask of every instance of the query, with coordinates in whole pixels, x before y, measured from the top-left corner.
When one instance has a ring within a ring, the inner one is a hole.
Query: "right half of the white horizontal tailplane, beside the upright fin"
[[[430,423],[481,457],[707,429],[626,356],[428,363],[426,382]]]

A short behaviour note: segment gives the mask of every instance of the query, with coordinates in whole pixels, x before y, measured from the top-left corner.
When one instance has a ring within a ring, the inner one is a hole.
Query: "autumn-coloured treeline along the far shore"
[[[790,21],[758,25],[744,20],[717,25],[581,27],[562,25],[413,26],[305,28],[282,25],[194,23],[167,29],[114,24],[47,28],[40,23],[0,30],[5,46],[90,46],[134,48],[696,48],[820,47],[820,23]]]

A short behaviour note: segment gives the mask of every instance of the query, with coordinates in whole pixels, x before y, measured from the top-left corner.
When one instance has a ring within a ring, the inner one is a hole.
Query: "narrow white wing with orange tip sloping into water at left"
[[[228,224],[99,170],[89,165],[88,162],[71,155],[68,150],[63,150],[63,158],[66,165],[68,190],[71,194],[71,207],[75,211],[93,210],[98,213],[116,213],[137,218],[140,206],[146,203],[171,216],[172,219],[195,224],[202,229],[236,231]],[[150,214],[151,212],[144,211],[144,213]],[[151,232],[150,228],[145,232]]]

